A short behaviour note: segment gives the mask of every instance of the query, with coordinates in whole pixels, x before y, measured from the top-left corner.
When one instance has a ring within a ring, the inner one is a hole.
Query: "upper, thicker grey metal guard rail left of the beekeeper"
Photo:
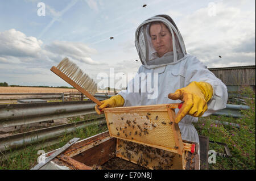
[[[0,105],[0,128],[94,113],[91,100]]]

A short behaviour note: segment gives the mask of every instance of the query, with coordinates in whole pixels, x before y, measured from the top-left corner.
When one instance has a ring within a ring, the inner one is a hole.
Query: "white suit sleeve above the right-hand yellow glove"
[[[226,103],[228,101],[228,90],[225,84],[210,70],[208,70],[207,66],[197,60],[196,57],[191,58],[191,60],[187,62],[187,71],[185,74],[185,86],[193,81],[196,81],[207,82],[213,88],[212,99],[210,99],[207,103],[208,110],[205,111],[203,117],[209,116],[218,110],[226,108]]]

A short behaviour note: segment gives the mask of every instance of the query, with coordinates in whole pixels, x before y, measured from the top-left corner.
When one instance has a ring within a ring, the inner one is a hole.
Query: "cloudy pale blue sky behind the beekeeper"
[[[69,86],[49,70],[64,57],[96,82],[110,68],[136,73],[135,30],[158,14],[174,19],[208,68],[255,65],[254,0],[2,0],[0,82]]]

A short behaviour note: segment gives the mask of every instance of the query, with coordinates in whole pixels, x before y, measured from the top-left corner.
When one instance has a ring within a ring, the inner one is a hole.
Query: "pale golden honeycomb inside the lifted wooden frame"
[[[112,137],[168,151],[175,149],[173,123],[168,111],[105,111],[105,116]]]

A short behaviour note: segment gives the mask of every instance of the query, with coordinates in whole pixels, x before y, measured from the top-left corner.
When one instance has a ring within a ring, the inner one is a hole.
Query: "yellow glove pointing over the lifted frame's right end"
[[[175,123],[179,123],[187,114],[200,117],[207,111],[207,102],[212,99],[213,89],[207,82],[191,82],[187,87],[168,94],[170,99],[182,100],[183,106],[175,117]]]

